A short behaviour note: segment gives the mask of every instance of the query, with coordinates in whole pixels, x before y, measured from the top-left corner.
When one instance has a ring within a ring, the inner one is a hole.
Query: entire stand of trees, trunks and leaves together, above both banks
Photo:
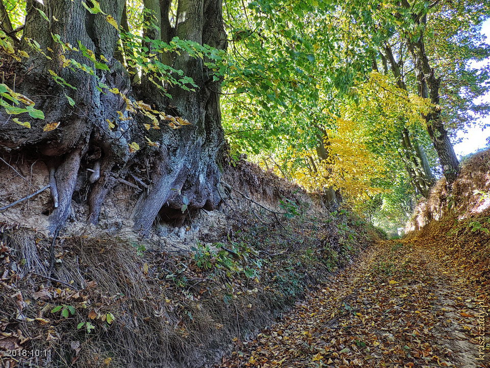
[[[436,178],[451,187],[456,132],[488,112],[490,70],[470,62],[490,56],[489,14],[473,0],[2,0],[0,145],[46,163],[53,232],[75,192],[96,223],[129,176],[148,188],[143,234],[215,209],[220,160],[243,154],[396,227]]]

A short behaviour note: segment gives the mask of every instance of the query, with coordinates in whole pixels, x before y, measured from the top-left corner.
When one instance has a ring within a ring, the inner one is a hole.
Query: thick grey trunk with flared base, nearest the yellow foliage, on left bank
[[[178,14],[178,37],[216,49],[226,48],[220,0],[181,0]],[[216,164],[224,143],[220,83],[212,82],[203,60],[186,53],[175,56],[174,67],[190,76],[199,89],[197,92],[179,87],[169,89],[172,96],[169,107],[192,125],[162,137],[160,158],[154,167],[154,185],[149,195],[138,203],[134,214],[135,227],[143,234],[148,233],[157,215],[164,220],[182,217],[185,208],[212,210],[220,202],[220,172]]]

